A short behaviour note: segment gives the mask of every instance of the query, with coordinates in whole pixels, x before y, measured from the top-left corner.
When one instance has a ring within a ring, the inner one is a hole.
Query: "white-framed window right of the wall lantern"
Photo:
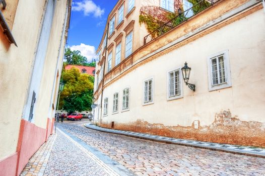
[[[223,51],[208,58],[209,90],[214,91],[231,86],[228,51]]]

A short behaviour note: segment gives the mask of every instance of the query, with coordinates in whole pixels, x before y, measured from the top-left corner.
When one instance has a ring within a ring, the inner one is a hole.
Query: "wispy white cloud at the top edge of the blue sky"
[[[94,14],[94,17],[101,17],[105,10],[97,6],[93,1],[83,0],[82,2],[73,3],[73,11],[83,11],[85,16]]]

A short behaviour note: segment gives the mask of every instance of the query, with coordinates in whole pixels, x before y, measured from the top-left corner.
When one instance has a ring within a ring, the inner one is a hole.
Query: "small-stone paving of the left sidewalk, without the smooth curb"
[[[21,175],[116,175],[81,147],[57,129],[31,157]]]

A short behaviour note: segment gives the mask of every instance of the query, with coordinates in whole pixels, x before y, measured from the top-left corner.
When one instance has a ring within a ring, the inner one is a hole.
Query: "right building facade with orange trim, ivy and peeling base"
[[[264,147],[264,3],[194,2],[118,1],[97,49],[95,122]],[[183,80],[185,62],[195,91]]]

